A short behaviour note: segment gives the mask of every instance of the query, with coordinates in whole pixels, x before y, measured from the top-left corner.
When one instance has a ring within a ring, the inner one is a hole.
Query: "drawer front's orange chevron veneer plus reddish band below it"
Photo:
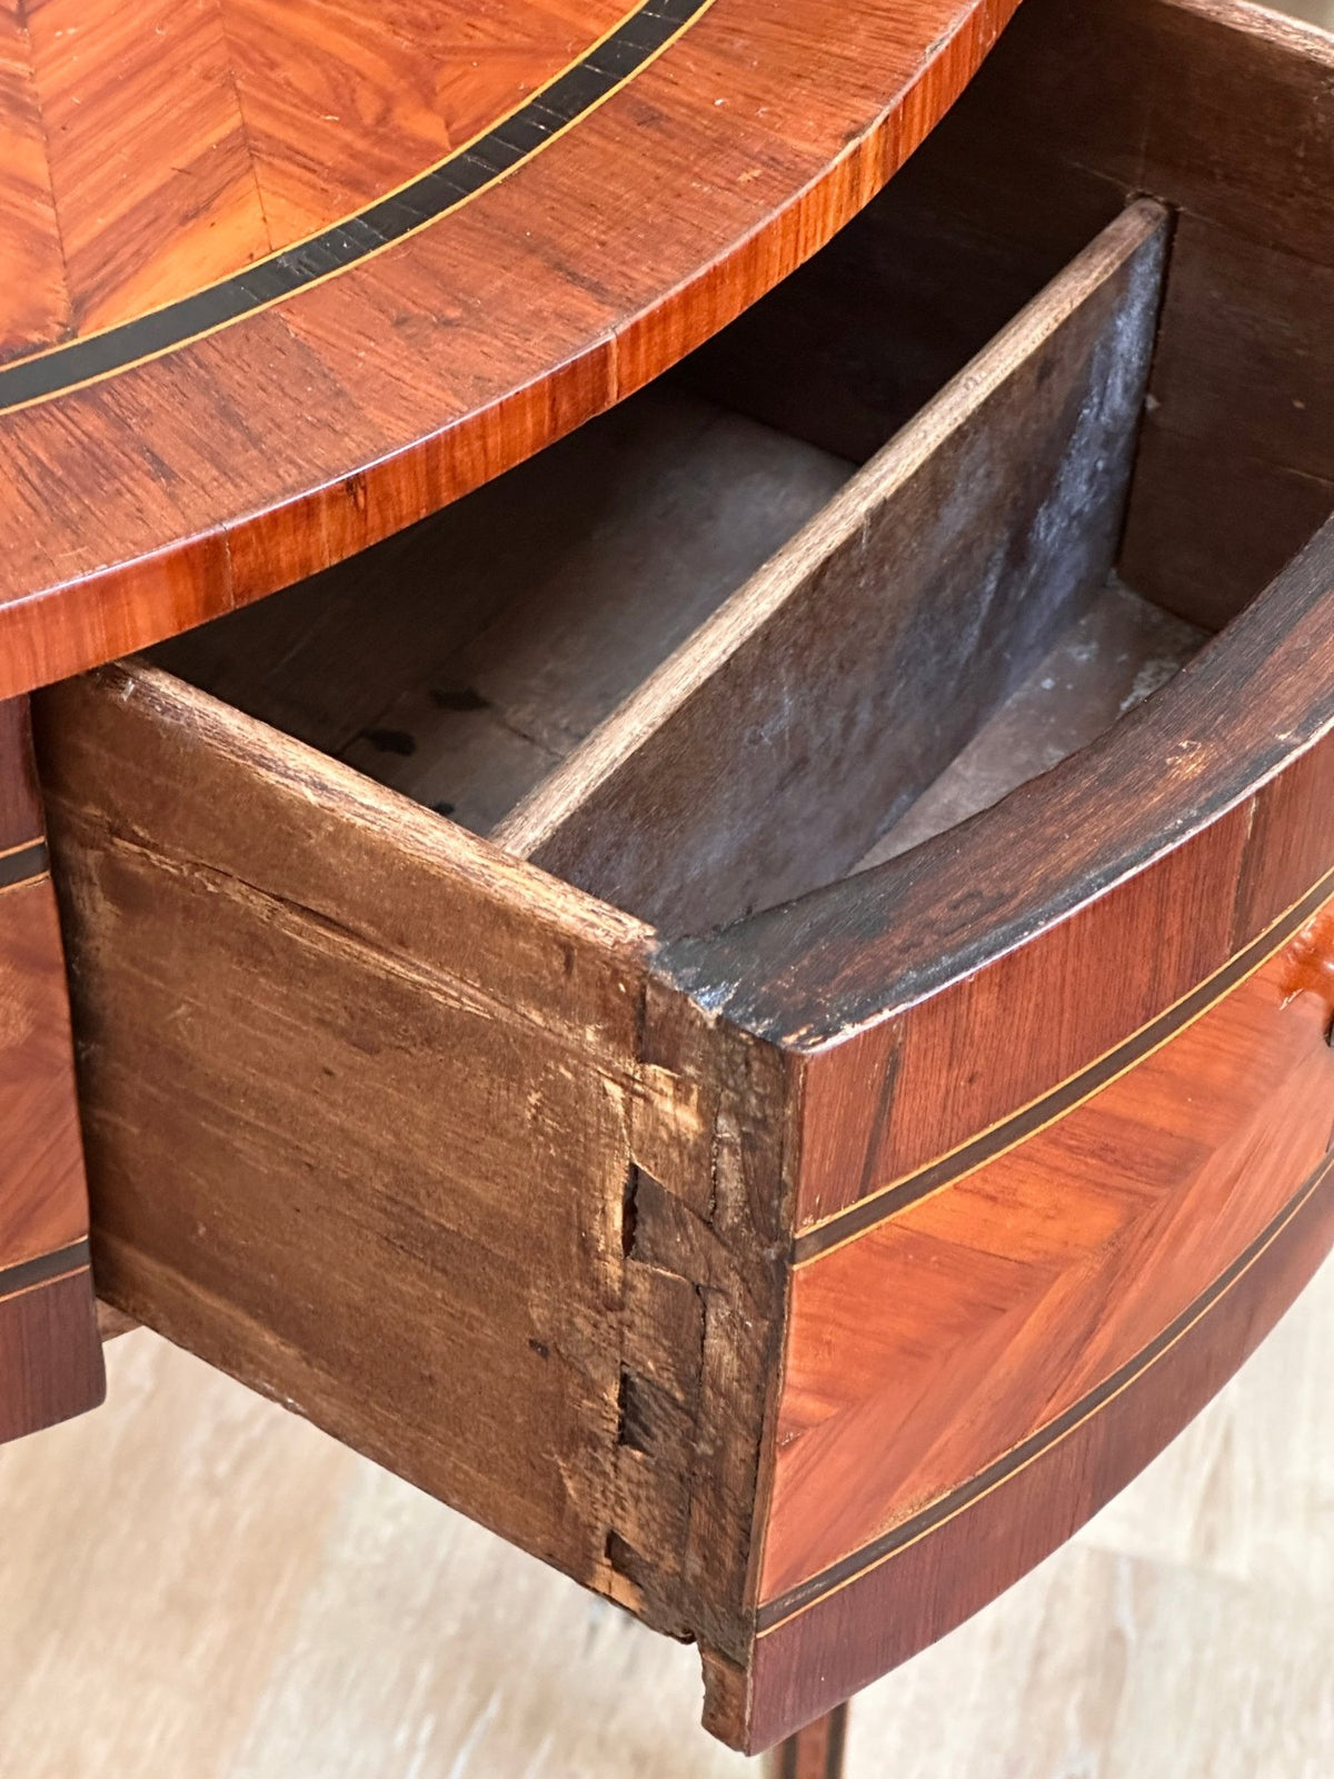
[[[1145,1026],[1110,1078],[1058,1089],[989,1160],[905,1183],[843,1240],[838,1219],[799,1240],[758,1665],[852,1619],[856,1660],[873,1646],[827,1695],[802,1665],[813,1710],[1067,1537],[1323,1254],[1332,891],[1323,879],[1169,1034]]]

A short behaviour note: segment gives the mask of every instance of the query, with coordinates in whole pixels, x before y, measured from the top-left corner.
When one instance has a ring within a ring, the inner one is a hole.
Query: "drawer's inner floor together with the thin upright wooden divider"
[[[1087,744],[1204,640],[1117,578],[1169,233],[1156,205],[1113,219],[953,377],[937,356],[943,388],[868,457],[864,423],[831,439],[847,354],[816,375],[792,329],[779,361],[758,313],[153,658],[669,934],[866,868]],[[783,415],[735,406],[756,331]],[[891,425],[923,375],[893,304],[882,342]]]

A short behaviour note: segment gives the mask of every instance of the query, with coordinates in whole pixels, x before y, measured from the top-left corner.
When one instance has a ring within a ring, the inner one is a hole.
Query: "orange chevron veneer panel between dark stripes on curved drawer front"
[[[797,1268],[761,1610],[1092,1400],[1314,1174],[1332,922],[1334,902],[1081,1105]]]

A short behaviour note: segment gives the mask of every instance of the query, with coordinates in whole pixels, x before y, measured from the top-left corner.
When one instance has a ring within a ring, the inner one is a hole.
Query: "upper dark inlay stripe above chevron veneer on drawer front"
[[[992,1124],[991,1130],[982,1131],[980,1137],[964,1144],[962,1149],[953,1149],[950,1155],[941,1156],[939,1162],[930,1162],[921,1172],[911,1174],[907,1179],[898,1181],[898,1185],[888,1187],[872,1197],[859,1199],[845,1211],[831,1217],[829,1222],[793,1236],[793,1265],[800,1267],[818,1254],[827,1254],[832,1247],[841,1247],[864,1229],[873,1229],[886,1217],[893,1217],[909,1204],[916,1204],[918,1199],[925,1199],[941,1187],[962,1179],[964,1174],[975,1172],[985,1162],[1005,1153],[1005,1149],[1012,1149],[1017,1142],[1023,1142],[1025,1137],[1032,1137],[1042,1130],[1044,1124],[1051,1124],[1062,1114],[1090,1099],[1101,1087],[1115,1080],[1117,1075],[1124,1075],[1128,1067],[1147,1057],[1149,1051],[1160,1050],[1167,1039],[1185,1032],[1215,1002],[1222,1000],[1231,987],[1236,987],[1243,977],[1252,975],[1266,959],[1282,950],[1288,939],[1300,932],[1307,920],[1323,907],[1332,888],[1334,872],[1329,872],[1314,890],[1302,897],[1297,907],[1290,909],[1272,927],[1266,927],[1258,939],[1252,939],[1243,952],[1231,957],[1222,970],[1206,977],[1185,1000],[1176,1002],[1176,1005],[1169,1007],[1149,1025],[1133,1032],[1122,1044],[1117,1044],[1115,1050],[1108,1050],[1105,1057],[1090,1062],[1078,1075],[1071,1075],[1041,1099],[1033,1099],[1032,1105],[1023,1107],[1001,1124]]]

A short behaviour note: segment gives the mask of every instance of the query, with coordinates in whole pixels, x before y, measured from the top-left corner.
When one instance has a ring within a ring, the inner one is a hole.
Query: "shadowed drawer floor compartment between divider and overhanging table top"
[[[644,390],[409,537],[153,658],[487,833],[850,470]]]

